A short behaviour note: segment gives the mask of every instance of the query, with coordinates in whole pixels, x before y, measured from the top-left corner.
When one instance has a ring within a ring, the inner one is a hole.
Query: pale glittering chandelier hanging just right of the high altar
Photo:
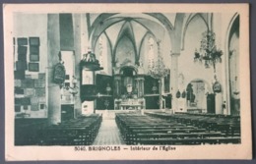
[[[166,77],[169,74],[169,70],[165,67],[161,54],[160,54],[160,40],[157,41],[158,44],[158,58],[156,61],[151,61],[149,64],[149,75],[157,80]]]

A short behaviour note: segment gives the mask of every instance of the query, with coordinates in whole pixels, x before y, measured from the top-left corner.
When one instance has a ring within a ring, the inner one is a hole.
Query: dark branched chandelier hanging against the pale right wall
[[[217,49],[216,34],[214,31],[207,30],[202,33],[200,50],[195,50],[194,62],[203,63],[205,68],[214,67],[216,72],[216,63],[222,63],[223,51]]]

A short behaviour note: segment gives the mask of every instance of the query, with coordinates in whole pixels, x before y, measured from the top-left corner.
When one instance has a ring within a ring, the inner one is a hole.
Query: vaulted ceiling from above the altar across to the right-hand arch
[[[184,41],[186,28],[194,19],[202,19],[207,27],[211,24],[211,14],[175,14],[175,13],[140,13],[119,14],[102,13],[88,14],[88,26],[90,26],[90,37],[94,49],[96,40],[100,34],[105,33],[109,39],[112,49],[115,48],[122,36],[127,36],[134,41],[137,50],[146,33],[153,34],[156,39],[173,37],[170,39]],[[184,15],[180,17],[179,15]],[[197,17],[198,16],[198,17]],[[179,24],[182,22],[181,24]],[[179,33],[175,33],[178,30]],[[179,37],[176,38],[177,34]],[[175,37],[175,38],[174,38]],[[183,43],[180,43],[181,47]]]

